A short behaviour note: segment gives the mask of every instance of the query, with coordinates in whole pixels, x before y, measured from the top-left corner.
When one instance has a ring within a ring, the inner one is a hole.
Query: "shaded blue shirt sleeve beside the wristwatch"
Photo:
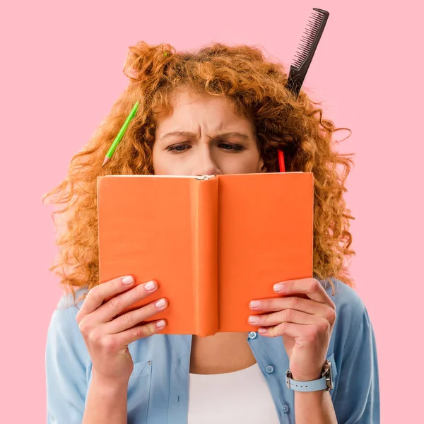
[[[343,349],[334,410],[338,424],[379,424],[377,347],[365,306],[354,324]]]

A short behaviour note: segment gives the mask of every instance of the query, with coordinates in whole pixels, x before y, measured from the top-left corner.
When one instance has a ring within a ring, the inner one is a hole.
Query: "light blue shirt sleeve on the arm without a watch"
[[[57,309],[47,332],[45,370],[47,424],[81,424],[86,403],[85,342],[76,324],[76,307]]]

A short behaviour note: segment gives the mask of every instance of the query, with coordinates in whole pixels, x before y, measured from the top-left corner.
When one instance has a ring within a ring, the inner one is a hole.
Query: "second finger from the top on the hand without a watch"
[[[131,290],[114,296],[114,298],[107,300],[102,306],[96,310],[93,315],[93,322],[109,322],[114,317],[117,317],[126,307],[134,305],[138,300],[147,298],[158,289],[158,284],[155,281],[148,281],[136,285]]]

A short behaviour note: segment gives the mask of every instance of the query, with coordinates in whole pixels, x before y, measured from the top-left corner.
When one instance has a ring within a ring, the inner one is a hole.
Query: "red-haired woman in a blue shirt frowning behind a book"
[[[140,42],[124,70],[128,88],[47,195],[67,204],[54,269],[74,292],[49,326],[48,422],[379,423],[375,336],[344,266],[353,254],[343,199],[351,160],[332,150],[334,124],[305,93],[296,100],[283,67],[252,47],[176,53]],[[102,167],[136,100],[134,121]],[[278,149],[288,171],[314,173],[314,278],[276,284],[276,299],[252,299],[262,315],[248,334],[160,334],[166,322],[143,321],[166,299],[117,317],[158,283],[98,284],[96,177],[278,172]]]

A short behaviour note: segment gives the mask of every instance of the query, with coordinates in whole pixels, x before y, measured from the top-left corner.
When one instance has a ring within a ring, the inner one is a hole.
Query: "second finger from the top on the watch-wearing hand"
[[[252,300],[249,307],[252,311],[257,312],[278,312],[293,309],[308,314],[322,314],[328,308],[328,305],[293,295],[284,298]]]

